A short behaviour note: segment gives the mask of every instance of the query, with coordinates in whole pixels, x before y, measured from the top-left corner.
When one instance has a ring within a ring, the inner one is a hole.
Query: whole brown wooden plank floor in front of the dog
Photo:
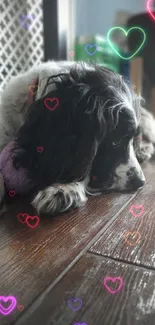
[[[0,218],[0,324],[155,325],[155,162],[137,193],[55,218],[16,196]],[[20,214],[20,215],[19,215]],[[18,217],[17,217],[18,216]],[[19,219],[20,221],[19,221]]]

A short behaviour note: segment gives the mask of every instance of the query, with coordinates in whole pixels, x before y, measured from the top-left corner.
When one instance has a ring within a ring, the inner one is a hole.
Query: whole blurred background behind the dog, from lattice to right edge
[[[91,61],[122,74],[155,115],[155,0],[0,0],[0,30],[0,91],[43,61]]]

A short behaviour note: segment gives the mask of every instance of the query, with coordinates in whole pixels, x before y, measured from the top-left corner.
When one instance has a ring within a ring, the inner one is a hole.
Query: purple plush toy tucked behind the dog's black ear
[[[27,194],[36,187],[34,181],[28,179],[25,168],[16,170],[12,163],[12,150],[15,141],[11,140],[0,154],[0,173],[3,176],[6,191],[14,191],[16,194]]]

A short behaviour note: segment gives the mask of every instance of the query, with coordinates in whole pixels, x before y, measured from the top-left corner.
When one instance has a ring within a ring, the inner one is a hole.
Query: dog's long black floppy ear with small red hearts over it
[[[17,134],[14,165],[28,169],[43,186],[83,180],[90,171],[106,123],[86,88],[61,82],[30,107]]]

